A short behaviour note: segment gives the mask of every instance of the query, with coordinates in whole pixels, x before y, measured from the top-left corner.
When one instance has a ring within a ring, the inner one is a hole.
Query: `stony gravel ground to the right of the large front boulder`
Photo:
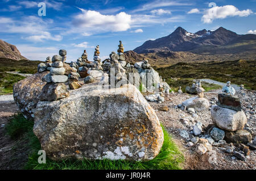
[[[214,105],[217,100],[218,93],[221,90],[205,92],[205,98],[210,100],[210,106]],[[245,91],[245,94],[238,94],[241,98],[243,111],[247,116],[247,124],[245,129],[251,132],[253,138],[256,136],[256,112],[255,112],[255,91]],[[184,100],[191,98],[189,94],[170,94],[165,96],[163,103],[151,102],[150,105],[156,110],[161,123],[167,128],[167,131],[172,135],[177,145],[180,146],[185,156],[184,169],[256,169],[256,150],[250,150],[250,154],[246,156],[245,161],[239,160],[233,153],[226,153],[226,146],[230,144],[212,146],[212,151],[207,151],[203,155],[195,152],[196,144],[191,144],[191,138],[195,137],[192,133],[192,127],[198,122],[203,124],[203,132],[200,137],[207,137],[205,128],[213,124],[210,117],[210,109],[194,114],[182,111],[177,108]],[[162,107],[167,106],[168,111],[160,111]],[[186,131],[189,138],[181,137],[180,131]],[[189,145],[191,144],[191,145]],[[236,150],[238,145],[233,145]]]

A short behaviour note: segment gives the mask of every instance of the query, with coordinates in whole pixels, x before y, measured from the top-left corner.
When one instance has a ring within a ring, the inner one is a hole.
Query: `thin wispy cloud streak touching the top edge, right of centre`
[[[157,0],[154,2],[146,3],[143,6],[139,7],[138,9],[133,10],[133,12],[139,12],[139,11],[146,11],[146,10],[152,10],[158,7],[168,7],[168,6],[187,6],[191,5],[191,3],[180,3],[177,1],[161,1]]]

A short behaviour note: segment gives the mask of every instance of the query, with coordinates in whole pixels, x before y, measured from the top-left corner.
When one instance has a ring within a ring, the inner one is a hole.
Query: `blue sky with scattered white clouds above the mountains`
[[[46,3],[46,16],[39,16],[38,3]],[[33,0],[0,1],[0,39],[16,45],[30,60],[66,49],[75,61],[83,50],[93,59],[100,45],[102,60],[119,40],[133,50],[146,40],[167,36],[177,27],[188,32],[224,27],[238,34],[256,34],[256,0]]]

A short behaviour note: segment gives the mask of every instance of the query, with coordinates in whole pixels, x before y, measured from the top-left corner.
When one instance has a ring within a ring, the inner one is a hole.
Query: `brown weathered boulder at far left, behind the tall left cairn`
[[[38,95],[42,92],[46,82],[42,78],[47,75],[49,71],[36,73],[27,77],[13,86],[13,97],[19,110],[23,113],[24,117],[31,119],[34,117],[36,104],[38,104]]]

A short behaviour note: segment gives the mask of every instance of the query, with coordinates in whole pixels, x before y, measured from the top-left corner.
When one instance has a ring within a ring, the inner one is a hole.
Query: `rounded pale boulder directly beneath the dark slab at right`
[[[246,115],[243,111],[234,111],[220,106],[212,106],[210,110],[213,123],[218,128],[226,131],[237,131],[243,129],[247,123]]]

